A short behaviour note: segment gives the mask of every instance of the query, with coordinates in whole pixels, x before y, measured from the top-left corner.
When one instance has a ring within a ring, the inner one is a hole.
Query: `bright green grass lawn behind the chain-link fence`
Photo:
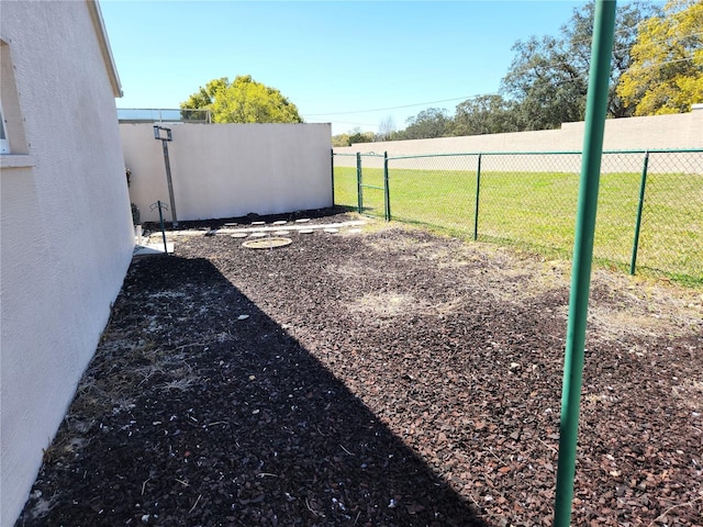
[[[335,203],[356,208],[356,169],[335,168]],[[393,220],[424,224],[472,237],[475,171],[389,170]],[[640,175],[601,176],[594,258],[629,269]],[[380,168],[364,169],[364,184],[382,187]],[[579,175],[576,172],[484,171],[481,173],[478,239],[570,256]],[[703,284],[703,176],[649,175],[637,253],[638,272],[663,272]],[[383,192],[364,189],[364,213],[383,215]]]

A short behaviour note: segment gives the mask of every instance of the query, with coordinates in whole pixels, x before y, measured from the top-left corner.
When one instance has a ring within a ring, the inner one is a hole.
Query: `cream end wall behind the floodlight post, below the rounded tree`
[[[189,124],[168,143],[178,221],[332,206],[330,124]],[[121,124],[130,195],[142,221],[169,204],[161,142],[152,124]],[[165,213],[170,221],[170,212]]]

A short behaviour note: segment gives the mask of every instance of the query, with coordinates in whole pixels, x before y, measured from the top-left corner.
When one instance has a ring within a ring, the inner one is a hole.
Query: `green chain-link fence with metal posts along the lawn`
[[[333,153],[335,204],[571,256],[580,152]],[[604,152],[594,259],[703,284],[703,149]]]

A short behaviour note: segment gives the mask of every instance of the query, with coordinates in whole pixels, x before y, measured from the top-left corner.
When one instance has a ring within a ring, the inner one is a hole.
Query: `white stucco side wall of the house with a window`
[[[134,238],[115,76],[100,45],[94,4],[3,1],[0,9],[2,104],[21,116],[9,117],[12,155],[0,156],[5,527],[22,509],[42,449],[96,350]],[[7,66],[13,75],[5,75]]]

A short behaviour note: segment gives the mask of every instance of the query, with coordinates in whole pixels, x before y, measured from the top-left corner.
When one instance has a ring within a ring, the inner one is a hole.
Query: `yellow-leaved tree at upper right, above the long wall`
[[[643,23],[617,93],[635,115],[683,113],[703,102],[703,2],[672,0]]]

